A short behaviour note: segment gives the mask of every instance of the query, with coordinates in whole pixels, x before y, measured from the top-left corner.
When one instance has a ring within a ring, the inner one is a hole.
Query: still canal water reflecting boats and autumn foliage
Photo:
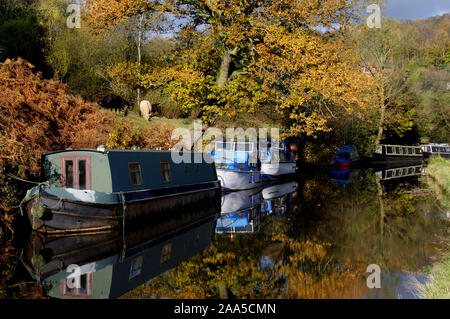
[[[157,221],[157,228],[170,229],[163,236],[153,234],[152,225],[125,229],[125,236],[33,235],[22,250],[25,266],[18,264],[20,275],[13,276],[18,279],[1,294],[416,298],[417,284],[427,280],[423,273],[448,238],[447,212],[421,167],[298,176],[224,195],[217,207],[201,208],[211,216],[188,227],[177,228],[176,216]],[[74,288],[67,284],[69,264],[81,267]],[[379,289],[367,286],[373,264],[382,272]],[[32,284],[36,279],[46,282],[44,289]]]

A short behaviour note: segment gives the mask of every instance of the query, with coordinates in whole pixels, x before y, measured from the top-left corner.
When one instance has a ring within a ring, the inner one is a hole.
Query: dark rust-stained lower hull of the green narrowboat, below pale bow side
[[[41,191],[23,207],[28,214],[32,229],[38,232],[64,234],[95,234],[97,232],[140,223],[146,219],[164,218],[168,211],[178,211],[183,219],[185,209],[201,209],[220,203],[220,183],[211,183],[195,191],[170,196],[149,196],[145,192],[123,194],[122,202],[110,204],[87,203],[64,199]],[[149,194],[147,194],[149,195]],[[41,205],[45,212],[40,217],[33,215],[33,205]]]

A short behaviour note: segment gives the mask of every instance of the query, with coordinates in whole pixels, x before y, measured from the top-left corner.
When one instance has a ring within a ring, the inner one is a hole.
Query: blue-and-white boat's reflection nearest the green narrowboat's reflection
[[[221,216],[216,233],[255,233],[259,231],[261,187],[222,195]]]

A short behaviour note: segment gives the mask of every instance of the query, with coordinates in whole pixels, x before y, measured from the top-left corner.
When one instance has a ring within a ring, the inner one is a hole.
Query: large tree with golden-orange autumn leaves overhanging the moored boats
[[[138,81],[163,87],[210,123],[265,108],[284,119],[289,134],[314,135],[328,118],[370,104],[367,77],[339,40],[362,1],[103,2],[87,1],[90,20],[105,28],[142,10],[185,21],[171,54]]]

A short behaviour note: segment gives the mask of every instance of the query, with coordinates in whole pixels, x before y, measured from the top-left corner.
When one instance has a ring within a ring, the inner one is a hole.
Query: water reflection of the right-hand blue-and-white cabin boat
[[[286,216],[296,191],[297,183],[295,181],[265,185],[262,190],[261,215]]]

